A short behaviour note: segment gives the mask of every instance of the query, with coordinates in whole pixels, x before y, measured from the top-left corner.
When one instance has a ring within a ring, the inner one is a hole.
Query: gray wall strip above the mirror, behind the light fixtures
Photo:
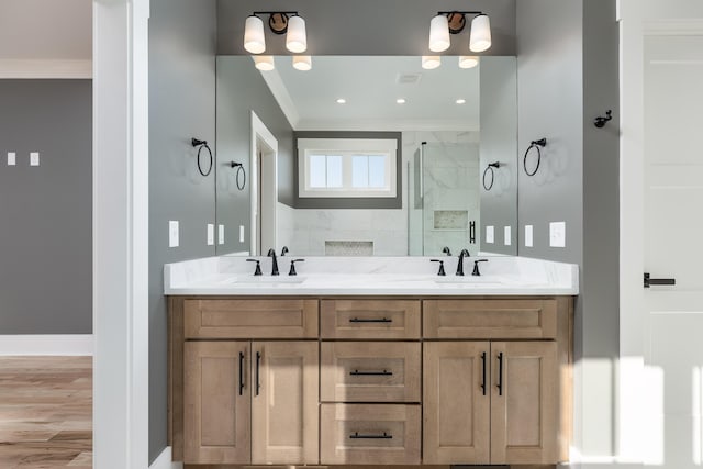
[[[266,3],[219,0],[219,54],[247,54],[242,44],[244,21],[254,11],[297,10],[305,20],[308,53],[312,55],[428,54],[429,20],[438,10],[477,10],[491,19],[493,45],[483,55],[515,55],[515,0],[287,0]],[[470,20],[471,18],[469,18]],[[268,16],[263,16],[268,21]],[[266,27],[266,53],[289,55],[284,36]],[[469,27],[451,38],[448,55],[469,54]],[[471,54],[473,55],[473,54]]]

